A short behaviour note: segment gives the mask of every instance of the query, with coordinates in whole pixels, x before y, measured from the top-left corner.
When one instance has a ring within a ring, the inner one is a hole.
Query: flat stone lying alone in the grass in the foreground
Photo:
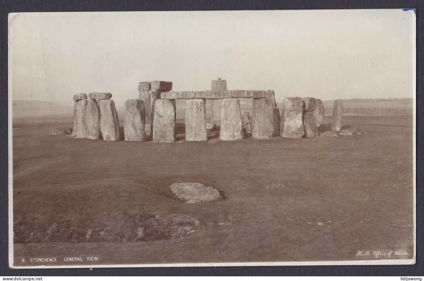
[[[198,182],[172,184],[170,188],[177,198],[186,203],[207,203],[222,199],[218,189]]]

